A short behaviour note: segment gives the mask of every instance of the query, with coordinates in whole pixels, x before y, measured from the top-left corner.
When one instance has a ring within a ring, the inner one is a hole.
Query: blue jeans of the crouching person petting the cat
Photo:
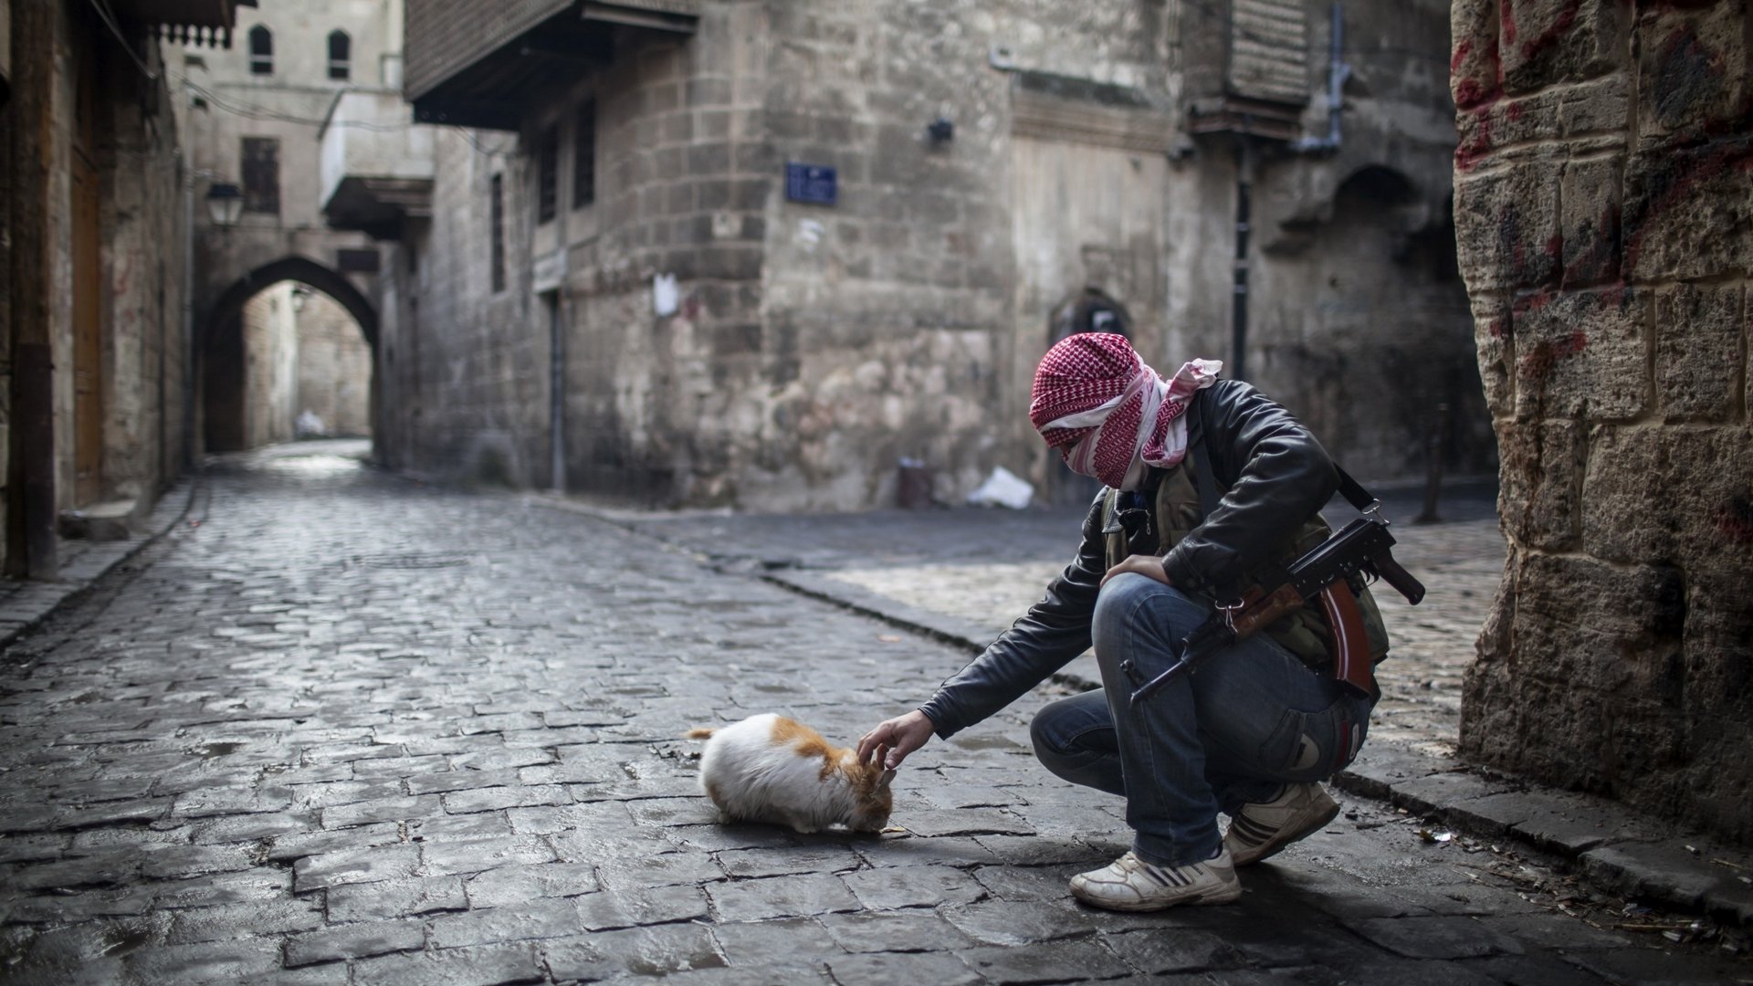
[[[1262,633],[1131,707],[1120,661],[1155,677],[1210,612],[1145,575],[1111,579],[1092,625],[1103,688],[1052,702],[1029,728],[1048,770],[1125,798],[1132,849],[1159,865],[1211,858],[1218,811],[1236,814],[1285,782],[1348,765],[1374,705]]]

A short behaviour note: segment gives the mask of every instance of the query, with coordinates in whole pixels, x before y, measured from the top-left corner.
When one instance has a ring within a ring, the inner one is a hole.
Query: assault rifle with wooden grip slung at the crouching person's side
[[[1390,551],[1394,535],[1388,533],[1388,523],[1374,514],[1378,511],[1367,511],[1345,530],[1292,561],[1281,579],[1271,579],[1276,582],[1273,588],[1220,605],[1182,640],[1180,658],[1169,670],[1143,681],[1145,675],[1138,665],[1122,661],[1120,670],[1132,682],[1131,702],[1136,705],[1150,698],[1164,684],[1194,670],[1211,654],[1255,635],[1274,619],[1295,612],[1315,595],[1320,595],[1322,611],[1332,632],[1334,679],[1371,695],[1374,670],[1369,660],[1369,642],[1364,639],[1364,621],[1348,582],[1357,575],[1364,575],[1366,581],[1381,579],[1406,597],[1406,602],[1418,605],[1423,600],[1423,586],[1394,560]]]

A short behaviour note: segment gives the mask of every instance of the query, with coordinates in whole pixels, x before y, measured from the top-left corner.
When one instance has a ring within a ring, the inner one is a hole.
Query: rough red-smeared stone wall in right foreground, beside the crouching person
[[[1462,747],[1753,839],[1744,4],[1458,0],[1509,558]]]

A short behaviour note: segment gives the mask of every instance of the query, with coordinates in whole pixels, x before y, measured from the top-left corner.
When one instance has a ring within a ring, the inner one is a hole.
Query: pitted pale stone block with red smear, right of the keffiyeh
[[[1650,405],[1644,312],[1630,288],[1516,302],[1516,418],[1636,418]]]

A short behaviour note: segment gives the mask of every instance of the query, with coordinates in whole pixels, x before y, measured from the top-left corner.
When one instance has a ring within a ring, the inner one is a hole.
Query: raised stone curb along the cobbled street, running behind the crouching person
[[[650,518],[636,511],[600,509],[559,497],[528,497],[528,502],[584,514],[701,554],[698,546],[666,537],[661,525],[642,523]],[[708,560],[719,570],[745,574],[756,567],[754,561]],[[973,654],[992,640],[990,630],[812,574],[808,568],[777,565],[757,574],[777,586]],[[1090,654],[1066,665],[1054,674],[1054,681],[1080,691],[1101,688]],[[1600,890],[1665,909],[1706,914],[1742,928],[1753,926],[1753,853],[1714,837],[1676,839],[1671,823],[1639,816],[1608,798],[1560,791],[1462,760],[1387,744],[1366,744],[1357,761],[1329,782],[1352,795],[1441,819],[1469,835],[1516,840],[1557,856]]]

